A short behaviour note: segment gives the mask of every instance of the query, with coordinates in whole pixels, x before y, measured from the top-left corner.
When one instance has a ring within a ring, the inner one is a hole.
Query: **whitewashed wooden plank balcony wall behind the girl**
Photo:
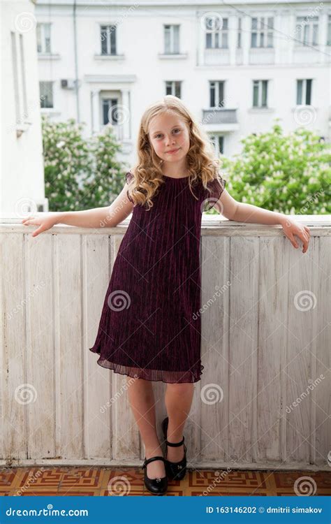
[[[203,217],[189,467],[328,470],[331,221],[295,218],[311,228],[306,254],[280,226]],[[36,238],[1,225],[1,465],[141,465],[126,377],[89,351],[128,221]]]

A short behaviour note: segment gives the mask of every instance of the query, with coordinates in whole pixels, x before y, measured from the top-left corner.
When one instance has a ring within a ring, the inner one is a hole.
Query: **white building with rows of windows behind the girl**
[[[275,119],[330,141],[330,3],[37,0],[36,17],[42,111],[88,134],[112,123],[129,165],[164,94],[226,156]]]

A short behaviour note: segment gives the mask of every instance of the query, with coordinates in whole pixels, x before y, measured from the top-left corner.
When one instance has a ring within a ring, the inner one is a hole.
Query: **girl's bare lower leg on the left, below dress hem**
[[[130,379],[128,385],[128,400],[138,425],[142,442],[145,444],[145,456],[163,457],[159,439],[156,433],[155,400],[152,381],[144,379]],[[134,380],[134,381],[133,381]],[[132,382],[133,381],[133,382]],[[149,479],[157,479],[165,476],[165,467],[162,460],[154,460],[147,465],[147,476]]]

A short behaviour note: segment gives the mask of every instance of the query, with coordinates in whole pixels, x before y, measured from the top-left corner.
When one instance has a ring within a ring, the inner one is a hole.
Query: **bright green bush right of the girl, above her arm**
[[[221,156],[235,200],[285,214],[330,214],[331,152],[307,129],[249,135],[233,159]]]

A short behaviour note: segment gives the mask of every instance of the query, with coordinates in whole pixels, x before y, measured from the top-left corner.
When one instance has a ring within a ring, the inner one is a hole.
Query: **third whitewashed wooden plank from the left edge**
[[[82,386],[82,249],[79,235],[57,235],[54,272],[57,275],[59,384],[57,410],[61,438],[58,455],[82,458],[83,402]]]

